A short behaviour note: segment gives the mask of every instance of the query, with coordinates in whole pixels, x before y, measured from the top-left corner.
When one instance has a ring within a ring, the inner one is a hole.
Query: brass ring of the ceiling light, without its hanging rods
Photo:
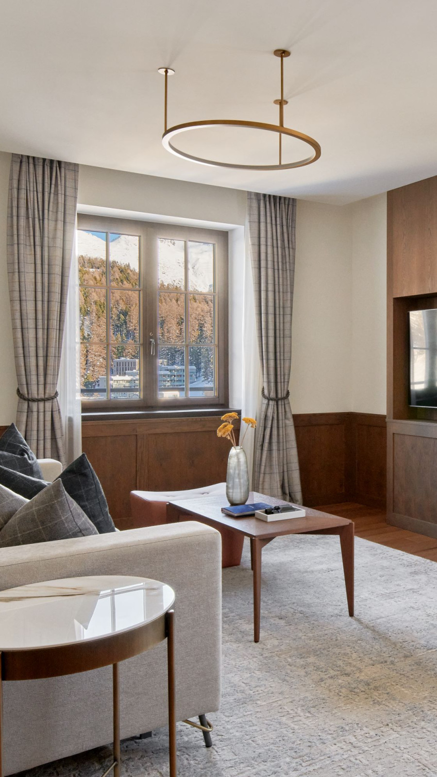
[[[216,162],[214,159],[204,159],[201,156],[194,156],[187,152],[180,151],[179,148],[170,142],[176,135],[199,127],[246,127],[246,129],[263,130],[275,132],[280,135],[288,135],[290,138],[296,138],[313,148],[313,155],[306,159],[299,159],[298,162],[286,162],[281,165],[235,165],[232,162]],[[288,127],[281,127],[279,124],[264,124],[262,121],[244,121],[239,119],[211,119],[204,121],[188,121],[186,124],[175,124],[163,134],[163,146],[175,156],[182,159],[189,159],[191,162],[198,162],[199,165],[209,165],[211,167],[229,167],[236,170],[289,170],[294,167],[304,167],[311,165],[320,158],[321,148],[314,138],[305,135],[297,130],[290,130]]]

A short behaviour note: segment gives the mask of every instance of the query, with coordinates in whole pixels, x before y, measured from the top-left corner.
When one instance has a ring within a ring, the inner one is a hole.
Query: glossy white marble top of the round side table
[[[145,577],[47,580],[0,591],[0,650],[68,645],[138,628],[171,608],[170,586]]]

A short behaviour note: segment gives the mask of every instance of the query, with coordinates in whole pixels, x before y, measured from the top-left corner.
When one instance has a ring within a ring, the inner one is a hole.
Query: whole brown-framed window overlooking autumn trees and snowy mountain
[[[227,233],[78,216],[86,408],[225,406]]]

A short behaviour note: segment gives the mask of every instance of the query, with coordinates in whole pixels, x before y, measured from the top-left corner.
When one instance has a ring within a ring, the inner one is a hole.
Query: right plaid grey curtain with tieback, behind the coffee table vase
[[[248,193],[262,406],[257,423],[253,489],[302,503],[288,383],[292,364],[295,207],[290,197]]]

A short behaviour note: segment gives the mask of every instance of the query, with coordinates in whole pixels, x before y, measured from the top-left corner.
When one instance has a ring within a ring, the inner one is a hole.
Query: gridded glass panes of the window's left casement
[[[140,237],[79,229],[78,263],[82,399],[140,399]]]

